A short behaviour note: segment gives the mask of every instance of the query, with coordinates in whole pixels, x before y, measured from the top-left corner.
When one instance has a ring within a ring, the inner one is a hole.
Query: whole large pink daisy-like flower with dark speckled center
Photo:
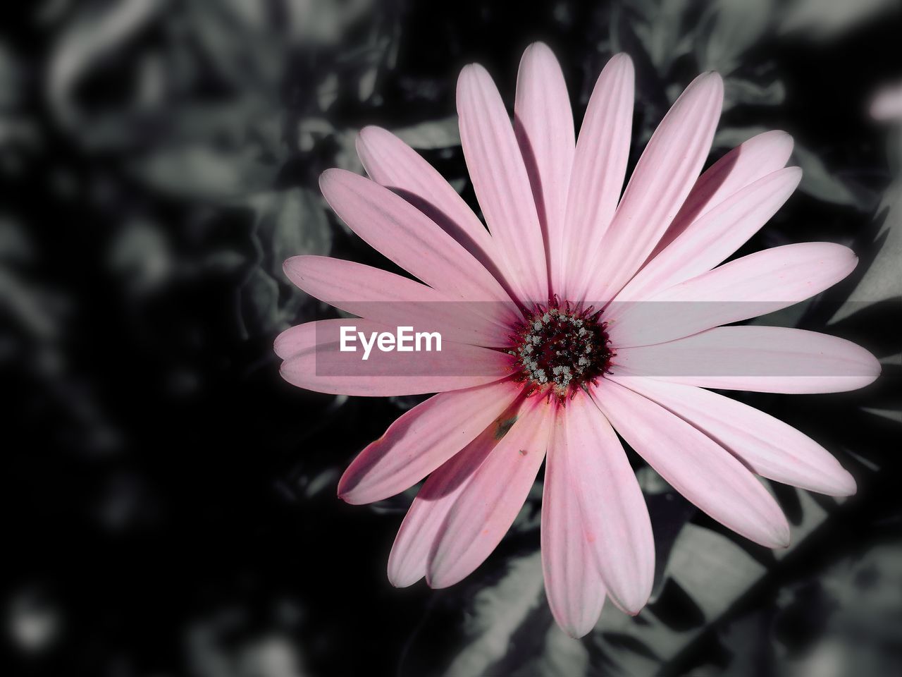
[[[438,393],[364,449],[338,486],[345,501],[364,504],[428,478],[391,550],[394,585],[425,577],[444,588],[476,569],[547,457],[541,548],[557,622],[584,635],[605,597],[638,613],[651,590],[654,541],[615,431],[705,513],[768,547],[785,547],[789,527],[756,475],[854,493],[851,475],[815,441],[703,389],[828,393],[879,374],[870,353],[840,338],[720,326],[822,292],[857,261],[846,247],[811,243],[719,265],[800,179],[796,167],[784,168],[792,141],[782,132],[750,139],[699,176],[722,98],[716,73],[696,78],[621,196],[629,57],[605,66],[575,140],[560,67],[534,44],[520,63],[514,125],[482,67],[467,66],[458,80],[461,140],[488,230],[435,169],[382,129],[365,128],[357,144],[372,181],[323,174],[336,213],[422,284],[317,256],[289,259],[290,279],[361,315],[358,329],[426,323],[448,338],[441,357],[423,357],[433,360],[429,371],[416,374],[364,373],[368,363],[337,348],[342,320],[276,339],[282,376],[294,385]],[[345,371],[318,368],[327,363]]]

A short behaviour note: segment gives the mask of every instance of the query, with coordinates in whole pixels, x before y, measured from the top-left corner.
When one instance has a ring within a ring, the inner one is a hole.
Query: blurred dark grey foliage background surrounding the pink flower
[[[539,677],[902,674],[900,119],[894,0],[35,0],[0,9],[0,636],[14,675]],[[456,74],[512,103],[543,40],[577,121],[603,63],[637,68],[631,162],[686,84],[726,83],[711,162],[796,139],[796,195],[740,252],[849,245],[851,279],[784,320],[853,338],[884,376],[849,394],[737,394],[857,478],[845,501],[774,486],[793,546],[699,515],[637,463],[653,602],[554,625],[534,492],[451,589],[392,589],[412,493],[352,507],[342,469],[416,398],[281,381],[275,335],[323,309],[282,261],[372,250],[326,209],[328,167],[385,126],[474,204]],[[883,116],[892,118],[891,115]]]

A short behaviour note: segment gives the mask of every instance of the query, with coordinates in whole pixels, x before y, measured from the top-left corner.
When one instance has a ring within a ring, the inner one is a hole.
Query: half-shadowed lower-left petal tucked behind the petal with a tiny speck
[[[426,575],[429,552],[451,506],[464,491],[476,469],[497,446],[515,411],[495,419],[464,450],[429,475],[400,525],[389,555],[389,580],[396,588],[413,585]]]

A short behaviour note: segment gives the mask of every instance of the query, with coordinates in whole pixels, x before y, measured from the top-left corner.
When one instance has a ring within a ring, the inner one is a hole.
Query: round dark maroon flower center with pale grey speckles
[[[608,371],[614,353],[601,314],[591,307],[573,311],[557,298],[524,313],[508,352],[517,358],[517,380],[528,394],[553,394],[563,403]]]

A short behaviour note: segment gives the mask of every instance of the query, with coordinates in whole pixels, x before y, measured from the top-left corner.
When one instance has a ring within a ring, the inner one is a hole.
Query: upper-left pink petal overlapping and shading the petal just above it
[[[391,190],[339,169],[323,172],[319,187],[354,233],[430,287],[456,300],[510,301],[463,246]]]

